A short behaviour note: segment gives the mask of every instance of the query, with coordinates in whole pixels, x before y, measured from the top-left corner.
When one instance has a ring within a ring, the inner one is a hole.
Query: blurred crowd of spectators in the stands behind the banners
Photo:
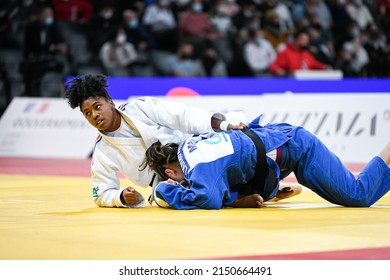
[[[0,0],[2,87],[26,96],[86,73],[389,77],[389,38],[390,0]]]

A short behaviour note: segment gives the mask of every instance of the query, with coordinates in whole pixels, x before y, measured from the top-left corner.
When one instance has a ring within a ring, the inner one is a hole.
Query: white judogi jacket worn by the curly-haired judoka
[[[225,120],[219,113],[152,97],[132,100],[117,110],[139,137],[109,137],[99,132],[91,163],[91,183],[93,199],[101,207],[130,207],[121,202],[118,173],[135,186],[149,186],[154,173],[149,168],[139,171],[139,166],[146,149],[154,142],[179,143],[193,134],[214,132],[213,116]],[[158,180],[154,181],[156,184]],[[144,198],[139,193],[138,196],[140,202],[131,207],[144,204]]]

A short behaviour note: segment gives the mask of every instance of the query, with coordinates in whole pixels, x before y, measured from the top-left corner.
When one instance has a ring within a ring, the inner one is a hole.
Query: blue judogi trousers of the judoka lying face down
[[[356,178],[315,135],[289,131],[282,145],[281,179],[294,172],[298,182],[331,203],[368,207],[390,190],[390,168],[374,157]]]

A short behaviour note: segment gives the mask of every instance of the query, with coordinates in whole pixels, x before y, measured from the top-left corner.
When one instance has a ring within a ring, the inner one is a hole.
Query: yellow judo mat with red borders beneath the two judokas
[[[0,158],[0,259],[390,259],[390,193],[370,208],[333,205],[305,188],[259,209],[99,208],[89,165]],[[151,189],[137,190],[147,199]]]

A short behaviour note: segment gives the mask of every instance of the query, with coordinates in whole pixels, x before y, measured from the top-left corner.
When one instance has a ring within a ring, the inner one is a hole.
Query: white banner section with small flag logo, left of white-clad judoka
[[[0,119],[0,156],[88,158],[97,131],[61,98],[15,97]]]

